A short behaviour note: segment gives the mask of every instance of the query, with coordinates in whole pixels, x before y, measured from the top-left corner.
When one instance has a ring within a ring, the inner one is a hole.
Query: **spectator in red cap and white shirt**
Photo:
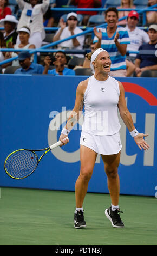
[[[148,34],[137,27],[139,21],[139,14],[136,11],[130,11],[127,18],[126,29],[129,34],[130,44],[127,45],[127,51],[138,51],[139,47],[149,42]],[[136,53],[130,53],[127,59],[134,62]]]

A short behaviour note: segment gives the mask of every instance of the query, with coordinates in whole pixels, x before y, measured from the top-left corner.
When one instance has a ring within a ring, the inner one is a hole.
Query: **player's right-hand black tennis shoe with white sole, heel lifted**
[[[116,209],[115,211],[112,211],[111,206],[110,206],[110,208],[108,208],[104,211],[106,217],[110,220],[110,222],[112,223],[112,226],[114,228],[124,228],[125,227],[124,223],[121,220],[120,212],[123,213],[122,211],[120,211],[120,209]]]

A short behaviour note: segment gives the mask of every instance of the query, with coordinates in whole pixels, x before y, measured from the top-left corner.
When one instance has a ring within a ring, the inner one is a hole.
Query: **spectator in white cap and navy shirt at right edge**
[[[140,50],[156,50],[155,46],[157,44],[157,25],[152,24],[149,26],[148,35],[150,41],[148,44],[143,44],[140,46]],[[157,70],[157,57],[154,54],[144,55],[138,54],[135,60],[135,72],[136,76],[140,77],[141,73],[145,70]]]

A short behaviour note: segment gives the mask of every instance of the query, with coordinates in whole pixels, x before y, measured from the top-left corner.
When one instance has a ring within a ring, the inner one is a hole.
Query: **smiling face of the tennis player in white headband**
[[[110,72],[110,65],[111,60],[108,52],[100,52],[94,62],[95,69],[103,73],[108,73]]]

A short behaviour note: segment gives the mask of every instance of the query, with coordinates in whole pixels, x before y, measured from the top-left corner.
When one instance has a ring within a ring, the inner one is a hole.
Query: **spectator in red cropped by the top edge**
[[[71,0],[70,4],[77,5],[77,8],[101,8],[101,0]],[[86,26],[91,15],[96,15],[97,11],[77,11],[83,15],[83,25]]]

